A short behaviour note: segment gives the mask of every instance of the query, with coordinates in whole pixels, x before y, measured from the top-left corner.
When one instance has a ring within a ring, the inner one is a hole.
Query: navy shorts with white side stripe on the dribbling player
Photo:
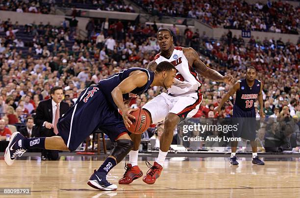
[[[127,133],[122,115],[106,100],[99,85],[81,92],[76,104],[58,121],[57,129],[70,151],[101,129],[111,141]]]

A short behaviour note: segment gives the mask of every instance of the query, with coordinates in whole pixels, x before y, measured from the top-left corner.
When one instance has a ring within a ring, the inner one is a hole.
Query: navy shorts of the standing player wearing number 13
[[[232,132],[232,137],[254,141],[256,139],[255,109],[244,111],[237,105],[234,105],[232,117],[233,124],[237,125],[237,131]]]

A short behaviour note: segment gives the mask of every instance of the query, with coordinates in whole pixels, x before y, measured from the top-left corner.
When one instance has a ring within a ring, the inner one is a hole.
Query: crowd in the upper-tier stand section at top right
[[[245,0],[137,0],[152,15],[199,19],[213,28],[298,34],[300,7],[281,0],[247,3]]]

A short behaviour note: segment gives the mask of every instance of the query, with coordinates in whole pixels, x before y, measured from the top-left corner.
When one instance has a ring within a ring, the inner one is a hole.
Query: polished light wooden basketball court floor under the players
[[[0,188],[31,188],[30,196],[9,197],[300,197],[300,158],[266,160],[265,166],[252,165],[250,158],[239,158],[239,166],[229,166],[228,158],[224,157],[173,157],[168,158],[160,178],[153,185],[145,184],[142,178],[129,185],[119,185],[118,180],[124,173],[123,161],[108,175],[108,181],[118,185],[118,190],[111,192],[97,191],[86,184],[103,161],[26,158],[16,160],[11,167],[0,158]],[[146,174],[145,162],[139,161],[139,166]]]

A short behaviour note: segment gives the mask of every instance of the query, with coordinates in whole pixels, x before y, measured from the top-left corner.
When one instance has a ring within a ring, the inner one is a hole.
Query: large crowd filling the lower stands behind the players
[[[92,20],[91,23],[94,24]],[[70,27],[34,23],[20,26],[10,20],[0,24],[0,116],[8,118],[7,124],[24,123],[27,116],[34,116],[39,102],[50,98],[53,86],[64,88],[64,100],[72,106],[84,88],[114,74],[114,69],[146,68],[159,52],[156,25],[106,20],[95,23],[88,39],[82,39],[69,36]],[[214,40],[188,28],[185,38],[177,45],[194,47],[202,61],[221,74],[231,73],[241,79],[247,66],[257,68],[257,78],[264,84],[267,116],[300,116],[299,43],[270,38],[251,38],[246,42],[230,31]],[[213,112],[230,85],[201,76],[200,81],[203,101],[195,117],[230,117],[233,100],[225,104],[220,114]],[[129,105],[143,107],[162,91],[161,87],[152,87]],[[255,108],[258,110],[258,103]],[[154,128],[152,125],[144,136],[151,138]]]

